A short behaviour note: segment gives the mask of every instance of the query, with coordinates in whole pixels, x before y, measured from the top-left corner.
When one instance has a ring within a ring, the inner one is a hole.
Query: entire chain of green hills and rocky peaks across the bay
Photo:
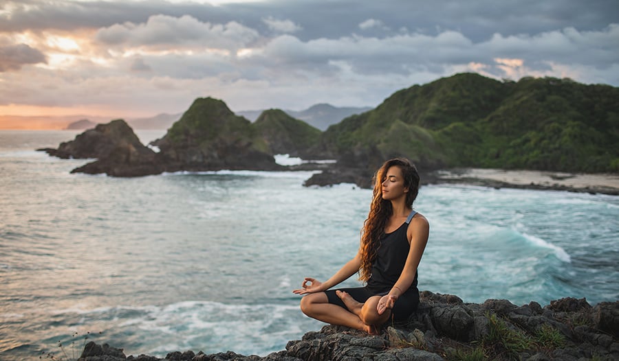
[[[324,170],[307,185],[369,187],[373,170],[395,156],[411,159],[430,174],[428,181],[436,170],[459,167],[617,174],[618,99],[619,88],[604,84],[530,77],[501,82],[461,73],[397,91],[325,131],[279,109],[265,110],[252,123],[206,97],[151,143],[159,152],[142,145],[120,119],[45,151],[97,158],[74,172],[111,176],[289,170],[275,163],[274,154],[337,161],[295,167]],[[85,147],[98,150],[82,154]]]

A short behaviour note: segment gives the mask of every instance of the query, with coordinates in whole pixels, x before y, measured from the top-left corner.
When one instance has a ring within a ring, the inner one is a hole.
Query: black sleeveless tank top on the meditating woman
[[[372,292],[389,292],[400,278],[411,248],[409,239],[406,237],[406,230],[415,213],[417,212],[411,211],[400,228],[391,233],[385,233],[380,238],[376,260],[372,264],[372,275],[367,281],[367,288]],[[417,288],[417,272],[409,289],[411,288]]]

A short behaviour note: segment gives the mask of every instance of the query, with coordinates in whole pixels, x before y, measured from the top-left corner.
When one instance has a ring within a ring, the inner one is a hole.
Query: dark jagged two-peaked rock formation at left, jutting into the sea
[[[197,99],[162,139],[155,153],[122,120],[99,124],[61,143],[41,149],[63,159],[96,158],[72,172],[110,176],[145,176],[162,172],[206,170],[281,170],[252,124],[237,117],[221,100]]]

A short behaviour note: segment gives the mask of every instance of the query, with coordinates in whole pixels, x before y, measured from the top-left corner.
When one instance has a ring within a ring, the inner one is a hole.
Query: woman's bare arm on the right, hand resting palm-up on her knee
[[[409,249],[409,255],[406,257],[404,270],[402,270],[400,278],[395,282],[389,294],[383,296],[384,300],[382,299],[378,303],[378,314],[382,314],[387,308],[392,308],[395,300],[413,284],[415,274],[417,273],[417,266],[419,266],[428,243],[429,234],[430,224],[428,224],[428,220],[421,214],[418,214],[411,220],[406,231],[406,237],[409,239],[411,248]]]

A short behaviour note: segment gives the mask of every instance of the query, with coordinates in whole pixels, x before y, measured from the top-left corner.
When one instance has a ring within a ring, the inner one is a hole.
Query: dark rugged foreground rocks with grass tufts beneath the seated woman
[[[326,325],[265,357],[232,351],[126,357],[122,349],[89,342],[79,360],[619,360],[619,301],[592,307],[585,299],[565,298],[541,307],[501,299],[464,303],[457,296],[428,291],[420,296],[419,310],[406,325],[387,325],[378,336]]]

